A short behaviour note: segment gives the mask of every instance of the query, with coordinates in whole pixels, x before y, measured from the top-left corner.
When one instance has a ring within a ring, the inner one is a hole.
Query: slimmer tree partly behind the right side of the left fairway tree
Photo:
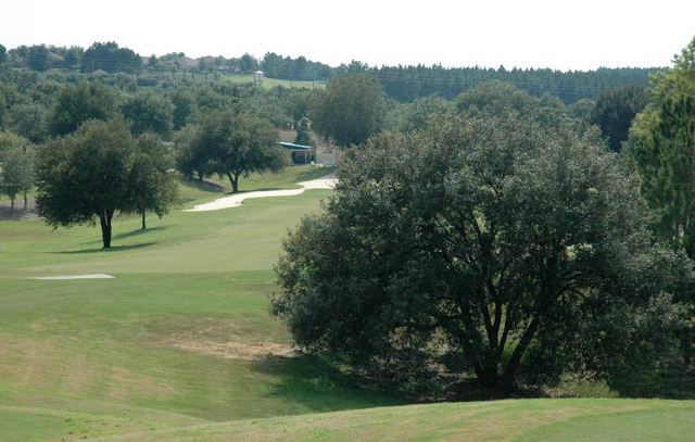
[[[170,165],[169,154],[155,135],[144,134],[138,138],[128,182],[131,195],[128,212],[142,216],[142,230],[147,228],[148,211],[161,218],[179,202],[178,181]]]

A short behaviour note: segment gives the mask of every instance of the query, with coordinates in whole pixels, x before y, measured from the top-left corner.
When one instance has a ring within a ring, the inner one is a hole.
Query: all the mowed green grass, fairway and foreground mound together
[[[252,176],[241,189],[289,188],[330,172],[290,168]],[[228,185],[220,184],[182,184],[185,207],[225,195]],[[271,266],[287,229],[318,211],[329,192],[150,216],[144,232],[139,218],[122,217],[109,251],[97,228],[0,222],[0,440],[692,435],[692,401],[394,407],[403,402],[359,388],[319,359],[289,354],[285,327],[268,315]],[[93,273],[115,279],[27,279]]]

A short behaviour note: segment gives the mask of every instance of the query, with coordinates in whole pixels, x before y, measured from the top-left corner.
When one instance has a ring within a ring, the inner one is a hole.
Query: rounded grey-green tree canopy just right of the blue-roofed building
[[[368,74],[331,77],[319,91],[309,112],[314,129],[340,147],[367,142],[383,127],[386,99],[377,80]]]

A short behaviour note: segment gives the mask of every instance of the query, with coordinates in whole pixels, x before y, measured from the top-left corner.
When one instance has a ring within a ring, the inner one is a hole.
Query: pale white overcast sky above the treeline
[[[667,66],[694,36],[693,0],[0,0],[8,49],[586,71]]]

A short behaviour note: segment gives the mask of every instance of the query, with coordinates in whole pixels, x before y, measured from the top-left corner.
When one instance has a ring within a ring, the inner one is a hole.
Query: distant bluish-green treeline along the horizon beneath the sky
[[[370,67],[356,61],[331,67],[305,56],[293,59],[275,52],[266,53],[262,60],[245,53],[240,58],[203,56],[197,61],[187,59],[184,53],[170,53],[151,55],[143,65],[140,55],[128,48],[119,48],[113,41],[94,42],[87,50],[78,47],[18,47],[10,50],[9,54],[15,64],[39,72],[51,66],[79,67],[83,72],[102,70],[108,73],[139,73],[143,67],[151,71],[186,70],[201,73],[251,73],[262,70],[270,78],[290,80],[326,80],[334,75],[369,73],[381,84],[389,98],[401,102],[410,102],[431,94],[451,100],[480,84],[498,80],[511,84],[532,96],[551,93],[565,103],[573,103],[583,98],[595,99],[604,92],[624,86],[645,87],[648,75],[656,72],[656,68],[632,67],[589,72],[560,72],[549,68],[507,70],[504,66],[496,70],[478,66],[445,68],[441,65]]]

